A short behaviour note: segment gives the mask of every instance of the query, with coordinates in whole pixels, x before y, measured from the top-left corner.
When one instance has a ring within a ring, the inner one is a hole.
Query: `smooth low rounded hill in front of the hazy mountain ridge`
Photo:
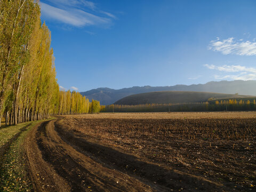
[[[161,91],[140,93],[127,96],[115,102],[117,105],[140,105],[146,103],[193,103],[204,102],[210,98],[245,98],[246,95],[222,94],[211,92],[192,92],[192,91]]]

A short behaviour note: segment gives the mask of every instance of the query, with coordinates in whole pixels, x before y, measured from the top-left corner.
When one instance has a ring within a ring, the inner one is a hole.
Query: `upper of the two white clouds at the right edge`
[[[220,40],[213,40],[209,44],[209,50],[219,51],[222,54],[236,54],[236,55],[256,55],[256,42],[245,41],[234,37]]]

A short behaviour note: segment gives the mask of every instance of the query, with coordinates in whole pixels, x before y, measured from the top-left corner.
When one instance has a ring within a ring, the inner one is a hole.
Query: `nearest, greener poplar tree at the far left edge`
[[[2,119],[5,99],[13,88],[14,74],[17,74],[25,49],[29,0],[2,0],[0,6],[0,118]],[[29,23],[28,23],[29,25]],[[21,64],[22,65],[22,64]]]

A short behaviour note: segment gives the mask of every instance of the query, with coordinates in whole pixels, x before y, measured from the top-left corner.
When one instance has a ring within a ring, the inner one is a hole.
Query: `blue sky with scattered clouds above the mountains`
[[[41,0],[58,83],[98,87],[256,79],[256,1]]]

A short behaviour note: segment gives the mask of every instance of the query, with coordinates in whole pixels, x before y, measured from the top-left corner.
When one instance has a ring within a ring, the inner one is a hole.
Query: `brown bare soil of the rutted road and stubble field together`
[[[189,125],[210,126],[215,120],[143,116],[65,116],[34,127],[25,148],[35,191],[254,189],[250,187],[255,185],[256,175],[255,140],[251,137],[250,141],[242,136],[227,140],[216,139],[214,134],[205,140],[208,133],[203,137],[197,133],[197,138],[187,138],[183,132],[168,127],[180,125],[191,130]],[[233,120],[219,120],[220,124],[217,121],[214,126],[234,126],[238,122]],[[241,117],[241,121],[255,126],[253,118]],[[255,127],[250,131],[255,138]],[[239,132],[244,133],[249,134]]]

